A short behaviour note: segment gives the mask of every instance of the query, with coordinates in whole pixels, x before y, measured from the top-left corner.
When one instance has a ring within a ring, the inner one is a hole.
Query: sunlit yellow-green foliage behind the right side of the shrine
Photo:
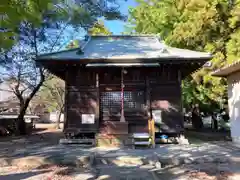
[[[211,52],[211,68],[202,68],[183,82],[184,104],[220,104],[225,80],[210,73],[240,57],[239,0],[137,0],[130,9],[135,33],[159,34],[167,44]]]

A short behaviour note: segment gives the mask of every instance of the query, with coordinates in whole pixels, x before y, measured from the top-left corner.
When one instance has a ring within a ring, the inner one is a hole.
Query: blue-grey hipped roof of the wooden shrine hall
[[[82,51],[82,53],[81,53]],[[211,54],[165,45],[156,36],[90,36],[76,48],[43,54],[38,60],[211,59]]]

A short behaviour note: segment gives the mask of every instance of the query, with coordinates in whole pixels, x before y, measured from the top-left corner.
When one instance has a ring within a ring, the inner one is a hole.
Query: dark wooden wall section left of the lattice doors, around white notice
[[[94,72],[69,67],[66,75],[65,129],[96,132],[99,123],[99,98]],[[83,124],[82,114],[95,114],[94,124]]]

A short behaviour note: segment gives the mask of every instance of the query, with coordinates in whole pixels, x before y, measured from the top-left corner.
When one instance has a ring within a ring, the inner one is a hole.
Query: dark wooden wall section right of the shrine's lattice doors
[[[180,76],[176,66],[166,66],[149,75],[151,109],[162,111],[162,132],[176,133],[184,128]]]

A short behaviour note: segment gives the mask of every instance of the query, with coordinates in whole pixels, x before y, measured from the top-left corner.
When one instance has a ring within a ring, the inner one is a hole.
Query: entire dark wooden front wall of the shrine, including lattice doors
[[[178,67],[126,68],[126,71],[124,109],[129,132],[147,131],[147,120],[154,109],[163,112],[161,131],[178,132],[183,127]],[[66,89],[66,128],[97,132],[104,129],[104,122],[120,120],[120,68],[69,67]],[[84,113],[95,114],[95,124],[82,124]]]

